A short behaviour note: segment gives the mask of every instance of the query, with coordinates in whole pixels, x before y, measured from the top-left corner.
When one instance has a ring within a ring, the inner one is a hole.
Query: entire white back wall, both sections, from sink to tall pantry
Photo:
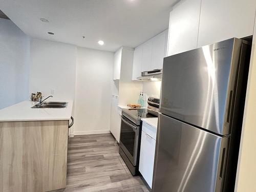
[[[113,58],[112,52],[31,39],[30,93],[48,96],[55,89],[54,100],[75,101],[71,135],[107,133]]]

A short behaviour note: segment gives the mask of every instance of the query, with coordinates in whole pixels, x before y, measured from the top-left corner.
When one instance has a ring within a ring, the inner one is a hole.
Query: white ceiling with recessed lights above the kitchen
[[[169,12],[176,1],[0,0],[0,8],[33,38],[116,51],[122,46],[137,47],[167,29]],[[99,40],[105,44],[98,45]]]

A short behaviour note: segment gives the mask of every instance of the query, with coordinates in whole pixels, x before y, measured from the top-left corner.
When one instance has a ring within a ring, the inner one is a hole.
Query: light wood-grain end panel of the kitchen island
[[[0,122],[0,192],[66,187],[68,123]]]

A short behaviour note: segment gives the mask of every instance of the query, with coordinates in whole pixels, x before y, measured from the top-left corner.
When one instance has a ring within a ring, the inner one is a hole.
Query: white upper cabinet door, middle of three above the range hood
[[[143,45],[142,50],[142,63],[141,63],[141,71],[150,71],[151,70],[151,62],[152,62],[152,47],[153,40],[150,39],[146,41]]]

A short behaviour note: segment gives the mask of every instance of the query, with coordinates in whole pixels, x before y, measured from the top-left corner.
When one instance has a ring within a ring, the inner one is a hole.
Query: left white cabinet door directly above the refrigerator
[[[200,7],[201,0],[183,0],[170,12],[168,56],[197,48]]]

